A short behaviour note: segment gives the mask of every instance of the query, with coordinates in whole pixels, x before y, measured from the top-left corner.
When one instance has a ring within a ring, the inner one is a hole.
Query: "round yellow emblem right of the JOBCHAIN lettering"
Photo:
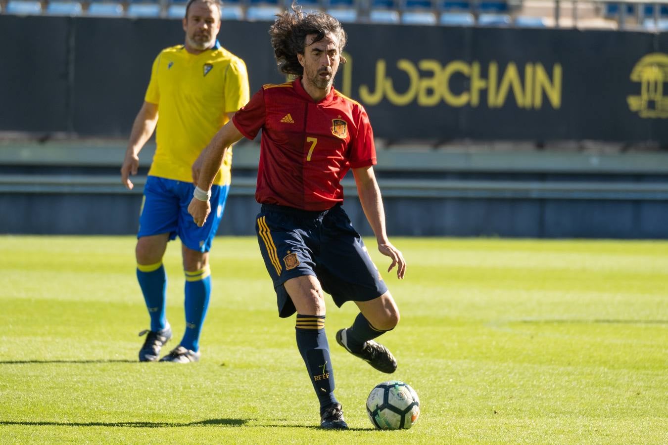
[[[640,83],[640,95],[627,96],[629,109],[644,119],[668,117],[668,95],[663,85],[668,82],[668,54],[651,53],[635,64],[631,81]]]

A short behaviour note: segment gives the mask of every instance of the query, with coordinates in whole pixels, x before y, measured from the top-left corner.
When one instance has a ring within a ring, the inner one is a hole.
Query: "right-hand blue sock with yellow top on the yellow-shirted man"
[[[186,271],[186,332],[183,334],[181,346],[198,352],[200,350],[200,334],[206,318],[206,310],[211,296],[211,271],[209,266],[195,272]]]

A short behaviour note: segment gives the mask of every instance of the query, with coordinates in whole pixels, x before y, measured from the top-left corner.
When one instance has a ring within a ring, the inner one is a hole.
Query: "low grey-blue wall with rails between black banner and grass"
[[[0,146],[0,234],[135,234],[151,158],[136,187],[118,173],[122,143]],[[256,146],[236,147],[218,234],[253,235]],[[668,155],[379,151],[391,236],[668,239]],[[344,208],[371,230],[346,178]]]

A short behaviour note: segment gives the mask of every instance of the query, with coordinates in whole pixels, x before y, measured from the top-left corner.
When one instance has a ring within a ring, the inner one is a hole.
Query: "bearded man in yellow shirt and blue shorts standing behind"
[[[199,338],[211,294],[208,252],[220,224],[230,187],[231,151],[208,193],[214,217],[198,227],[188,215],[196,189],[202,150],[214,134],[248,101],[244,62],[220,46],[218,0],[189,0],[184,45],[156,57],[144,105],[132,126],[121,180],[132,189],[138,154],[156,129],[157,149],[144,187],[137,234],[137,278],[150,316],[150,330],[139,352],[141,362],[158,360],[172,337],[165,313],[167,276],[162,257],[167,243],[181,240],[185,272],[186,330],[180,344],[161,362],[188,363],[200,358]]]

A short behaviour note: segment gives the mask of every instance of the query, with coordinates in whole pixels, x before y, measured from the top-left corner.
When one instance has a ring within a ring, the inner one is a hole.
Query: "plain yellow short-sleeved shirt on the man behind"
[[[248,101],[242,59],[216,45],[198,55],[184,45],[163,49],[153,62],[144,98],[158,104],[156,154],[149,175],[192,181],[192,163],[233,113]],[[230,183],[232,150],[214,184]]]

